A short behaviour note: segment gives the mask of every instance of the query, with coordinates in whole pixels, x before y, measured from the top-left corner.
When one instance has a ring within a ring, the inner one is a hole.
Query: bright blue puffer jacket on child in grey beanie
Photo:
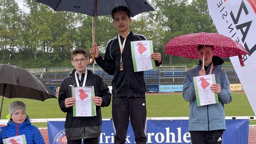
[[[21,123],[17,124],[9,121],[7,126],[0,128],[0,143],[3,139],[25,134],[27,144],[45,144],[44,139],[37,127],[31,125],[29,117]]]

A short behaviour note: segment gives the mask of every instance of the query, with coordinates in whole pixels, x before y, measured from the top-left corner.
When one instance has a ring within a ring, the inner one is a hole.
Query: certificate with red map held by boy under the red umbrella
[[[193,78],[197,106],[219,103],[218,94],[210,89],[212,84],[216,84],[214,74],[197,76]]]

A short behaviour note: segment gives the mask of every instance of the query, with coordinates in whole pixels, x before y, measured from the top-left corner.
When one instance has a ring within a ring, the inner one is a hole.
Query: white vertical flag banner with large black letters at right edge
[[[207,0],[207,4],[218,32],[249,52],[243,56],[244,67],[237,56],[230,59],[256,114],[256,0]]]

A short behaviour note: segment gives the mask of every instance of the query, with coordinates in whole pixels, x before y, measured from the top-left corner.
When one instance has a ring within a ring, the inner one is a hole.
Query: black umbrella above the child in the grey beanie
[[[0,118],[4,97],[28,98],[40,101],[57,98],[51,89],[36,75],[24,68],[9,64],[0,64],[0,95],[3,96]]]

